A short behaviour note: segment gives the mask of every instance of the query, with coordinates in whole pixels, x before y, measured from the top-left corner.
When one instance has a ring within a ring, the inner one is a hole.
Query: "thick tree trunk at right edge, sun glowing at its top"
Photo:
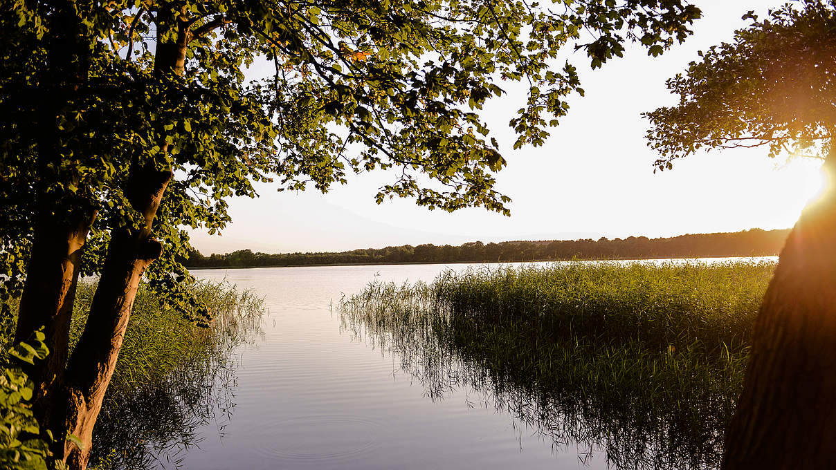
[[[836,149],[781,252],[722,468],[836,468]]]

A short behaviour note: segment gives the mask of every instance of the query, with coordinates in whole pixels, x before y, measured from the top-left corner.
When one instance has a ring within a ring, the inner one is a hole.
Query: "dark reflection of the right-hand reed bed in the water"
[[[468,406],[507,412],[556,454],[577,449],[581,462],[604,452],[624,469],[719,466],[739,364],[583,341],[538,345],[548,348],[543,363],[521,345],[538,341],[524,337],[531,331],[451,319],[425,287],[366,291],[344,299],[340,313],[344,331],[391,353],[431,400],[464,391],[475,397]]]

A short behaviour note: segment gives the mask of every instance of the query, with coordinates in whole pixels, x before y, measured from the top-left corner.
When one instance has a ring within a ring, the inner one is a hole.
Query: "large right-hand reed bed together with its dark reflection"
[[[569,263],[373,284],[346,326],[622,468],[716,467],[773,265]]]

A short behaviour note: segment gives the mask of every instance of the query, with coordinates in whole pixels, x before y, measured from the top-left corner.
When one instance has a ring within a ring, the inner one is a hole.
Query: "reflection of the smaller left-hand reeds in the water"
[[[96,423],[91,467],[180,468],[186,453],[200,447],[206,427],[225,435],[236,407],[236,351],[263,336],[261,311],[224,313],[206,334],[212,341],[205,355],[161,382],[107,397]]]

